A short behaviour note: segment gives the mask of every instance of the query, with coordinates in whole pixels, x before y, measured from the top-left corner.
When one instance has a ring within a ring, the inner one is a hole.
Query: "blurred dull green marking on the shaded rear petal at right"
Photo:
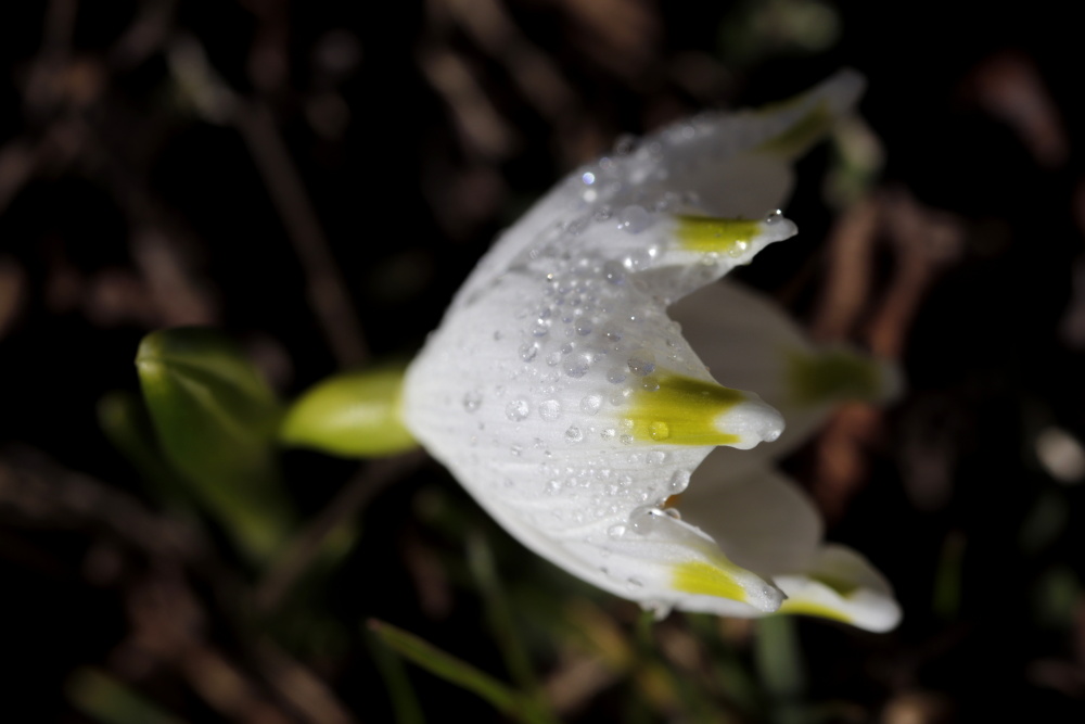
[[[878,363],[846,350],[791,352],[787,381],[796,405],[873,401],[883,388]]]

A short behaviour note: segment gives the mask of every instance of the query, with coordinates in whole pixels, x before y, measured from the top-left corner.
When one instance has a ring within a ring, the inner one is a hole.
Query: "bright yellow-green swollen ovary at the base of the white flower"
[[[399,418],[401,368],[345,372],[303,394],[279,429],[282,444],[349,458],[396,455],[418,445]]]

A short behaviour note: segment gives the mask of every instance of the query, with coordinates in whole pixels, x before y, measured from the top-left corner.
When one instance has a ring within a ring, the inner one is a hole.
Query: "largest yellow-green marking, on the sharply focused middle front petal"
[[[646,443],[733,445],[736,434],[719,429],[720,415],[746,399],[738,390],[681,374],[642,378],[626,412],[626,434]]]

